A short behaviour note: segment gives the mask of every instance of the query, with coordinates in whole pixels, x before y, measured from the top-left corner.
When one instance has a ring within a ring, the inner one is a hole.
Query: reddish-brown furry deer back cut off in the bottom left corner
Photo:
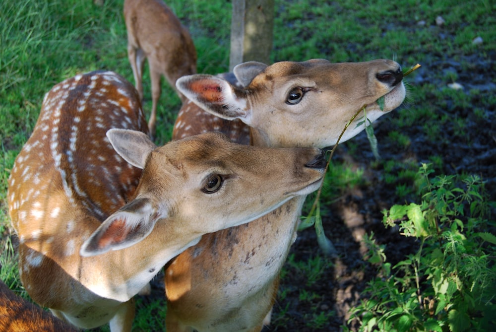
[[[49,312],[21,298],[0,281],[0,332],[46,331],[76,332]]]

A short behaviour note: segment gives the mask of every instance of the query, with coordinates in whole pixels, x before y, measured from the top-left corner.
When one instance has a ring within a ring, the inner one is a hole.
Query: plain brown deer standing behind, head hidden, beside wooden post
[[[161,76],[176,89],[176,80],[196,73],[196,49],[188,30],[162,0],[125,0],[127,55],[136,89],[143,100],[143,65],[148,60],[152,110],[148,128],[155,135]],[[176,89],[182,102],[186,98]]]

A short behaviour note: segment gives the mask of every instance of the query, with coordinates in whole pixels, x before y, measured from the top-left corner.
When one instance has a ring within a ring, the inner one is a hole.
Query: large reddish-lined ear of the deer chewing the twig
[[[219,76],[195,74],[180,77],[176,81],[178,90],[205,111],[226,120],[245,121],[247,101],[241,90]]]

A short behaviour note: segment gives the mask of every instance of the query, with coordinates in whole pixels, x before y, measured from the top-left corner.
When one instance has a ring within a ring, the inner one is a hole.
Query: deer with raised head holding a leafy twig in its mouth
[[[176,84],[205,111],[243,121],[255,146],[331,146],[362,107],[373,122],[405,98],[401,68],[389,60],[250,62],[236,66],[234,73],[244,88],[200,74]],[[376,102],[380,97],[382,110]],[[186,107],[173,138],[215,130]],[[358,116],[341,141],[360,133],[363,120],[363,114]],[[249,224],[206,234],[179,255],[165,272],[167,331],[256,332],[268,324],[304,200],[291,199]]]

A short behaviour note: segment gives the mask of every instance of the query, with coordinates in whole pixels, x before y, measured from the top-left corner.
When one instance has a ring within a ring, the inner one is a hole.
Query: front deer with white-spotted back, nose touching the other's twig
[[[8,179],[19,274],[78,328],[131,331],[133,296],[205,233],[257,219],[320,186],[318,148],[240,145],[203,133],[157,147],[137,91],[111,71],[44,97]]]

